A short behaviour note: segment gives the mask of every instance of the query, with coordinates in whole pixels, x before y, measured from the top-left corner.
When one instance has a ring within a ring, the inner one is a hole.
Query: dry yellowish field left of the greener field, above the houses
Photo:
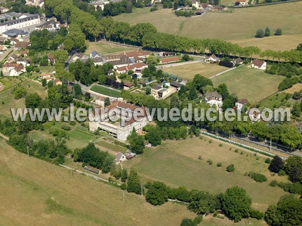
[[[181,66],[173,66],[162,68],[164,72],[181,76],[184,80],[192,80],[195,74],[201,74],[204,77],[211,77],[219,72],[225,71],[228,68],[209,63],[194,63]]]

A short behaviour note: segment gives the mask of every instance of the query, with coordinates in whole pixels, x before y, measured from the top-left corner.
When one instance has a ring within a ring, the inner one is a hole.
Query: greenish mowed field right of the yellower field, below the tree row
[[[282,76],[270,75],[263,70],[243,65],[214,77],[212,81],[214,86],[225,83],[230,93],[236,93],[239,99],[246,98],[254,103],[277,92],[283,79]]]

